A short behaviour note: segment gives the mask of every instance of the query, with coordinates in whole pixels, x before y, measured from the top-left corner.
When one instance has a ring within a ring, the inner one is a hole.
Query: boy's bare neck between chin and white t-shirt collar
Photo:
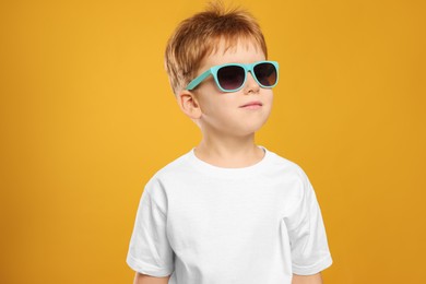
[[[264,156],[263,150],[255,144],[255,134],[221,140],[204,137],[194,154],[205,163],[227,168],[248,167],[259,163]]]

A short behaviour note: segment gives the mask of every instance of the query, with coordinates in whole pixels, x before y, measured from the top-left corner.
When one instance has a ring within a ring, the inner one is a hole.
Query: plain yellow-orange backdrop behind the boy
[[[424,283],[425,2],[235,1],[281,64],[257,143],[299,164],[326,283]],[[1,1],[0,283],[131,283],[143,186],[200,140],[163,69],[204,1]]]

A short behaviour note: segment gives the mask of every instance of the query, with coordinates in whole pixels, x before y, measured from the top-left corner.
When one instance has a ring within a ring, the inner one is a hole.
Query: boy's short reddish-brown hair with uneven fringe
[[[239,39],[248,39],[268,58],[267,44],[256,19],[246,10],[226,10],[222,2],[184,20],[167,42],[165,68],[175,95],[193,80],[201,61],[225,40],[226,48]]]

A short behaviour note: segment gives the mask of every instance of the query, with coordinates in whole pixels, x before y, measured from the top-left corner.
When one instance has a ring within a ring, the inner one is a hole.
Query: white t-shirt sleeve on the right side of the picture
[[[311,275],[329,268],[332,258],[316,193],[303,170],[299,185],[299,197],[287,218],[292,268],[294,274]]]

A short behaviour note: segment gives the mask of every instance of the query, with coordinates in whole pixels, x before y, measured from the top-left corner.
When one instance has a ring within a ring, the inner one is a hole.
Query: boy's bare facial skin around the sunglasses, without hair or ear
[[[226,51],[225,48],[224,40],[221,40],[215,52],[204,58],[197,75],[217,64],[265,60],[262,50],[250,42],[239,40]],[[264,125],[272,108],[272,88],[260,87],[250,72],[244,87],[237,92],[221,92],[213,76],[209,76],[193,93],[201,108],[199,122],[204,134],[252,134]],[[247,104],[253,105],[245,106]]]

